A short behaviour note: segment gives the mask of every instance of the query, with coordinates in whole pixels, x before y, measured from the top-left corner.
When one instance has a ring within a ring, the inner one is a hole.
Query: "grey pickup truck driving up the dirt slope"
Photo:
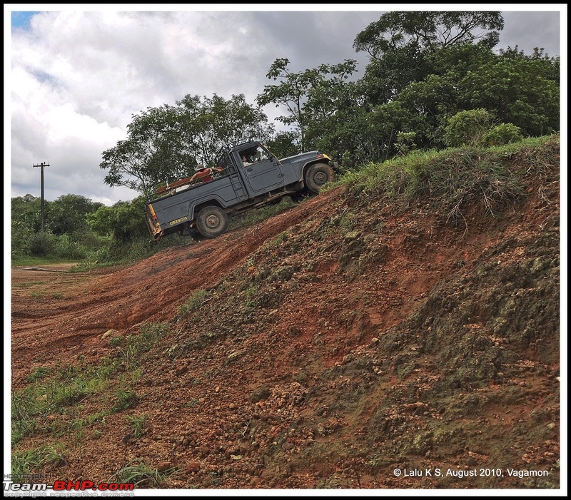
[[[226,232],[233,215],[278,203],[287,195],[299,200],[319,193],[335,180],[338,168],[318,151],[278,160],[258,141],[234,146],[217,163],[219,171],[211,180],[181,179],[147,200],[146,222],[154,240],[184,230],[216,238]]]

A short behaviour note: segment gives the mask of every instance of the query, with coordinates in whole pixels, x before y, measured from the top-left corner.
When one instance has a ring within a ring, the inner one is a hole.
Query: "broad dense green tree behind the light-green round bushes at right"
[[[446,126],[461,111],[484,109],[495,123],[511,123],[522,136],[559,130],[560,88],[553,67],[557,59],[495,54],[485,46],[448,46],[426,58],[432,71],[395,97],[403,110],[421,118],[420,148],[446,147]]]

